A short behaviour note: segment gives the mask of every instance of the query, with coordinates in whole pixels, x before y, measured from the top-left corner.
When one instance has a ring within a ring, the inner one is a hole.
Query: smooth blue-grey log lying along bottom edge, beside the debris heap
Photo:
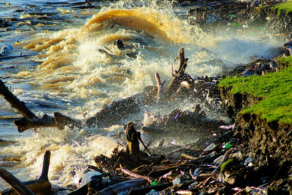
[[[117,195],[118,193],[125,192],[131,188],[141,187],[148,182],[145,178],[136,178],[115,185],[109,186],[94,195]]]

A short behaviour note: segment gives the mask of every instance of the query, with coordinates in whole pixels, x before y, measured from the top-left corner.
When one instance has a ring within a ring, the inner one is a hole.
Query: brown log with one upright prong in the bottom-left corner
[[[44,155],[43,167],[42,167],[42,172],[41,172],[40,177],[34,180],[22,182],[22,184],[25,185],[28,189],[30,189],[34,194],[37,194],[37,195],[52,195],[53,194],[52,184],[48,179],[50,156],[51,156],[51,152],[46,151]],[[14,189],[21,188],[21,186],[19,185],[15,185],[15,186],[11,185],[11,186],[12,186],[11,188],[0,191],[0,195],[17,195]],[[31,195],[31,194],[23,194],[23,195]]]

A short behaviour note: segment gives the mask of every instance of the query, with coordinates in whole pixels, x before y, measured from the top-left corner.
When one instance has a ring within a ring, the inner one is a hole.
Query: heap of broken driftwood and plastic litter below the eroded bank
[[[232,130],[217,133],[220,136],[206,142],[204,147],[189,148],[178,158],[165,160],[160,156],[157,157],[159,160],[153,160],[121,151],[106,160],[101,160],[103,156],[95,157],[97,167],[91,166],[91,169],[111,177],[145,179],[142,187],[125,188],[125,195],[288,194],[288,175],[292,171],[285,171],[292,165],[291,161],[285,161],[289,165],[286,164],[279,174],[279,169],[274,170],[278,166],[275,161],[264,154],[248,151],[244,146],[246,143]],[[225,146],[226,142],[231,146]],[[270,160],[266,161],[266,158]],[[282,187],[276,189],[276,184]]]

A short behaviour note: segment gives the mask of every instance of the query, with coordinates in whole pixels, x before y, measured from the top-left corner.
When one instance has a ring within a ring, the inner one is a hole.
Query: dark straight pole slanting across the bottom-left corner
[[[18,195],[35,195],[28,189],[18,178],[14,177],[9,171],[0,167],[0,177],[2,177],[11,187],[18,193]]]

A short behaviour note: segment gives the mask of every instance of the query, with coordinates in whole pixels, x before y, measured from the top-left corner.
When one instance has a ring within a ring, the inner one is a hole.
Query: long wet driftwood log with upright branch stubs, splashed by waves
[[[113,101],[110,105],[103,105],[100,111],[85,120],[72,119],[58,112],[55,112],[54,116],[45,114],[42,118],[39,118],[32,111],[30,111],[27,106],[25,106],[24,102],[19,101],[18,98],[7,89],[1,80],[0,94],[9,104],[15,107],[23,115],[23,118],[14,121],[14,124],[17,125],[19,132],[40,127],[57,127],[58,129],[63,129],[65,126],[69,126],[71,129],[75,127],[81,129],[83,126],[88,126],[104,128],[118,124],[121,119],[126,119],[129,114],[138,113],[140,111],[140,107],[146,104],[152,104],[155,102],[167,103],[182,94],[194,93],[193,88],[195,86],[195,80],[190,75],[184,73],[187,67],[188,58],[184,57],[183,48],[181,48],[178,53],[177,59],[180,61],[179,69],[175,71],[175,73],[172,73],[173,79],[168,85],[168,88],[163,87],[164,82],[160,80],[159,74],[155,73],[157,83],[157,96],[155,97],[156,101],[153,101],[153,97],[149,95],[151,92],[149,94],[139,93],[126,99]],[[182,88],[182,82],[186,82],[189,89],[183,88],[183,90],[178,91],[178,89]]]

